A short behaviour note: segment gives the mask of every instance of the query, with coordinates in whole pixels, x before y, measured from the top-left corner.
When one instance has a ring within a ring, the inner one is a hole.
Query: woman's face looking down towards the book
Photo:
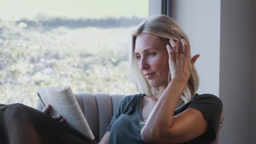
[[[136,37],[134,55],[140,72],[153,88],[168,85],[168,51],[160,37],[141,33]]]

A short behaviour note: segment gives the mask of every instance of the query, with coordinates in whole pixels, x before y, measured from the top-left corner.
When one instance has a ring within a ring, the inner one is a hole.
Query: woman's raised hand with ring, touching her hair
[[[166,45],[169,54],[169,68],[171,72],[171,79],[181,78],[187,83],[192,67],[195,61],[200,56],[196,54],[190,59],[189,47],[186,40],[181,39],[181,41],[169,40],[171,45]]]

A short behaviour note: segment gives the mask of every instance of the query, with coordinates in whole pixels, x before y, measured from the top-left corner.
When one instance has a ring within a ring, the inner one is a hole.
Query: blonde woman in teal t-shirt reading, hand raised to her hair
[[[99,144],[213,141],[222,102],[211,94],[196,93],[199,78],[194,64],[198,57],[191,58],[187,36],[170,17],[150,16],[142,21],[133,33],[130,51],[130,73],[140,94],[121,99]],[[48,113],[49,108],[43,112]],[[94,143],[21,104],[9,106],[3,117],[0,136],[4,133],[3,141],[11,144]],[[55,119],[65,122],[61,117]]]

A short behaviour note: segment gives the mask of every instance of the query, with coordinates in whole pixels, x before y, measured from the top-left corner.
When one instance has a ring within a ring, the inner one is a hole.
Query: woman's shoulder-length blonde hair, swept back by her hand
[[[189,57],[191,59],[190,44],[187,35],[183,32],[181,27],[168,16],[154,15],[141,21],[141,23],[135,27],[132,34],[132,46],[129,55],[130,76],[133,83],[136,85],[136,89],[139,93],[145,93],[147,96],[152,96],[159,92],[159,88],[152,88],[144,75],[139,71],[137,60],[134,55],[136,37],[141,33],[148,33],[157,35],[161,39],[168,42],[169,39],[181,40],[185,39],[189,47]],[[171,82],[171,73],[168,75],[168,83]],[[181,98],[176,105],[176,109],[183,106],[195,96],[195,93],[199,87],[199,77],[195,67],[192,67],[192,72],[187,82],[187,86],[184,89]]]

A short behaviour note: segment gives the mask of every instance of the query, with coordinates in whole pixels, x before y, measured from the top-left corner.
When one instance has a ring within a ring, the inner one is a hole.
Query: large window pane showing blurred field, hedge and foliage
[[[136,93],[128,77],[131,30],[148,0],[2,0],[0,103],[35,107],[39,87]]]

